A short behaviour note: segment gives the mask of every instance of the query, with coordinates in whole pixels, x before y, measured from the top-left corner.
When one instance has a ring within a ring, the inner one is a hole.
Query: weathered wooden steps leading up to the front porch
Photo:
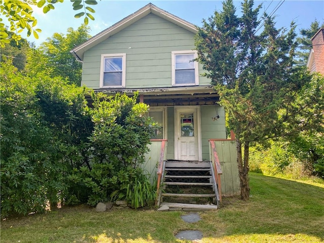
[[[173,210],[216,210],[210,162],[166,161],[160,206]]]

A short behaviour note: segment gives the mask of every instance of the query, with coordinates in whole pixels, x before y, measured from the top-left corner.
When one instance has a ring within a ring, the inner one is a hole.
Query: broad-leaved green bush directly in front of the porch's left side
[[[116,190],[119,197],[126,195],[129,184],[143,175],[140,166],[155,124],[146,116],[148,106],[136,103],[136,97],[137,94],[132,98],[116,94],[101,100],[101,96],[93,95],[90,167],[73,170],[68,177],[79,185],[74,188],[91,191],[89,205],[108,200]]]

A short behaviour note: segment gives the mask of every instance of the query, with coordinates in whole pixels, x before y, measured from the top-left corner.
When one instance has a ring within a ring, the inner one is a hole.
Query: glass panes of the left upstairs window
[[[103,86],[121,86],[123,58],[105,58],[104,64]]]

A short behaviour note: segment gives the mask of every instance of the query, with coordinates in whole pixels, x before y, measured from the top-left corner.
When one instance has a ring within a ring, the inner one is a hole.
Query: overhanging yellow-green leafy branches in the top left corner
[[[91,13],[96,11],[90,7],[97,5],[96,0],[70,0],[73,10],[80,11],[75,14],[75,18],[85,16],[84,23],[87,25],[89,19],[95,20]],[[50,10],[55,9],[55,4],[63,3],[63,0],[5,0],[0,2],[0,13],[6,16],[10,23],[10,31],[14,32],[9,36],[6,32],[3,19],[0,18],[0,44],[4,47],[4,44],[8,44],[11,39],[18,42],[21,39],[19,34],[24,29],[27,29],[27,36],[33,33],[34,37],[38,39],[38,33],[42,32],[41,29],[35,28],[37,25],[37,19],[33,16],[33,8],[43,8],[43,13],[48,13]]]

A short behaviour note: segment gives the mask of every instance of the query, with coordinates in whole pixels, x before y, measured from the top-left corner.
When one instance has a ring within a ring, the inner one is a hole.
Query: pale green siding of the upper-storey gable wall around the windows
[[[171,87],[171,52],[192,49],[194,33],[149,14],[85,52],[82,85],[99,88],[101,54],[126,53],[126,88]]]

